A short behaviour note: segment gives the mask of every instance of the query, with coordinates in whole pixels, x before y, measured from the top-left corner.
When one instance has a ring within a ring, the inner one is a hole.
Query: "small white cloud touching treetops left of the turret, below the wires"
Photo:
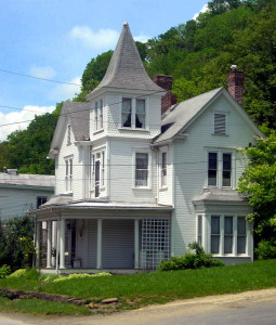
[[[68,81],[68,83],[63,83],[56,86],[52,91],[51,91],[51,99],[55,100],[56,102],[61,101],[67,101],[73,99],[77,93],[80,92],[80,84],[81,80],[80,77],[76,77]]]

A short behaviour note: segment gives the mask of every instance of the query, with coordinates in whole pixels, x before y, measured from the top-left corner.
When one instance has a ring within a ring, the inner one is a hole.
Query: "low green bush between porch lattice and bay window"
[[[172,257],[169,261],[161,261],[158,266],[159,271],[176,271],[186,269],[216,268],[223,266],[223,262],[214,259],[211,255],[206,253],[198,243],[188,245],[189,250],[182,257]]]

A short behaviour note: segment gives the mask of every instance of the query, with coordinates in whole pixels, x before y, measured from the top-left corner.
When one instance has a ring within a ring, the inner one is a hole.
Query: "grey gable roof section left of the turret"
[[[49,153],[50,158],[53,158],[54,151],[60,148],[63,130],[68,123],[71,126],[76,141],[89,140],[89,103],[65,102],[63,104]]]

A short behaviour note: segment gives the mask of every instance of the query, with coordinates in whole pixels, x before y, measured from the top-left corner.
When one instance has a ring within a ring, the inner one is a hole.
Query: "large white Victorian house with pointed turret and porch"
[[[55,196],[34,211],[38,252],[48,222],[49,272],[155,269],[195,240],[228,264],[252,260],[237,148],[262,133],[224,88],[175,104],[170,77],[155,81],[166,90],[147,76],[124,24],[88,103],[64,103],[49,155]]]

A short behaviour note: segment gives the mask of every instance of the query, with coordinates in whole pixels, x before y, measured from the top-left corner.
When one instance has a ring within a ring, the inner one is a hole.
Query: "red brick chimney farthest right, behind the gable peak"
[[[228,92],[240,106],[242,105],[242,90],[244,73],[238,72],[236,65],[232,65],[228,75]]]

